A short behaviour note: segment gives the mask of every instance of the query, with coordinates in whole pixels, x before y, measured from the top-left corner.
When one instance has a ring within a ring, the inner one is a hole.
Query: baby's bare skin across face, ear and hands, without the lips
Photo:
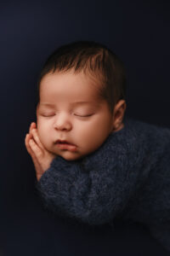
[[[37,125],[32,123],[26,135],[26,148],[39,177],[57,155],[65,160],[80,159],[99,148],[111,132],[124,127],[126,102],[117,102],[111,114],[108,103],[98,97],[97,86],[94,79],[73,71],[48,73],[42,78]],[[76,151],[58,148],[57,139],[76,144]]]

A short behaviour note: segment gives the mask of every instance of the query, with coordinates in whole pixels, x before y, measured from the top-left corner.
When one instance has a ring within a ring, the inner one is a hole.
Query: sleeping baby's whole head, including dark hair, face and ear
[[[99,148],[123,128],[125,81],[122,61],[103,44],[79,41],[56,49],[37,82],[37,131],[44,147],[65,160]]]

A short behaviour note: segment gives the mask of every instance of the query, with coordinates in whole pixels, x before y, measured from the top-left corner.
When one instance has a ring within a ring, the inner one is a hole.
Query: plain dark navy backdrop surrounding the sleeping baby
[[[44,212],[25,137],[36,121],[37,75],[61,44],[106,44],[127,69],[127,115],[170,127],[169,1],[1,1],[0,253],[169,255],[141,224],[88,230]]]

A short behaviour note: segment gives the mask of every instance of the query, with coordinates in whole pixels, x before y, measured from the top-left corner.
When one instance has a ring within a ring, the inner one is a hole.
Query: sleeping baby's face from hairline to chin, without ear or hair
[[[48,151],[77,160],[105,142],[113,118],[107,102],[97,97],[97,85],[84,73],[56,72],[42,78],[37,131]],[[58,139],[76,147],[59,145]]]

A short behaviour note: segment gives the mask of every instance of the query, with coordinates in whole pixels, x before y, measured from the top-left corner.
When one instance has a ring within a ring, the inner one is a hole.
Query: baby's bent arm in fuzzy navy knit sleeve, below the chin
[[[127,204],[135,177],[127,177],[127,155],[119,143],[111,150],[110,142],[105,143],[85,160],[55,157],[37,183],[44,207],[88,224],[116,217]]]

